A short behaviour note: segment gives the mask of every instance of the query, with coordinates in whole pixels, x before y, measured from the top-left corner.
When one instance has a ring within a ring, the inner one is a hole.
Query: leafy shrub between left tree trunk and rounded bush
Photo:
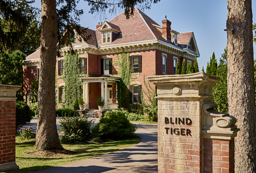
[[[60,137],[60,142],[87,141],[91,135],[94,121],[94,119],[88,120],[87,117],[79,116],[60,118],[60,131],[64,132],[64,136]]]

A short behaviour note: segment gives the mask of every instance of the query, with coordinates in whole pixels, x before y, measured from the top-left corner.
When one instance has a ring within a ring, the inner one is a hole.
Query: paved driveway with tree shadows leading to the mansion
[[[135,134],[141,138],[137,145],[91,159],[36,171],[36,173],[157,172],[157,124],[135,124],[138,127]],[[31,121],[28,127],[34,127],[34,121]]]

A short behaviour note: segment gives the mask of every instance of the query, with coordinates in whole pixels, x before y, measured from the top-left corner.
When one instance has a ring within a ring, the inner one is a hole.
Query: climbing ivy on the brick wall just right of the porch
[[[116,54],[117,60],[114,65],[117,67],[117,73],[120,75],[119,82],[117,82],[117,98],[118,108],[129,109],[130,100],[129,89],[127,88],[132,79],[132,70],[130,69],[129,53],[122,52],[121,55]]]

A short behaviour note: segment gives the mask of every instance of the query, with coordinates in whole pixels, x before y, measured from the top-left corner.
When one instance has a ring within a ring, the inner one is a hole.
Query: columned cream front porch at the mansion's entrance
[[[98,109],[96,100],[102,97],[105,101],[103,110],[118,108],[117,85],[118,77],[84,77],[83,81],[83,100],[85,109]]]

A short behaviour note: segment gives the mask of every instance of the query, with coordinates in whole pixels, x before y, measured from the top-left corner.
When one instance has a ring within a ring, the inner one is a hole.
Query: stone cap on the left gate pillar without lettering
[[[20,88],[17,85],[0,85],[0,100],[15,100],[16,92]]]

